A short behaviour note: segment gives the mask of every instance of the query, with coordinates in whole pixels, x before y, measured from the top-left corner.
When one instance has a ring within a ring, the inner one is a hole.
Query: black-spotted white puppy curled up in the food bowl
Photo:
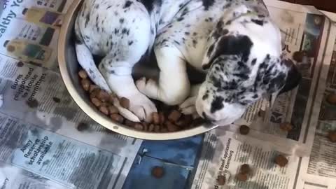
[[[157,111],[151,98],[228,125],[301,78],[281,56],[280,30],[260,1],[84,0],[75,32],[79,64],[94,83],[131,100],[137,117],[124,116],[133,121]],[[134,83],[132,68],[151,49],[160,78]],[[104,57],[98,67],[92,54]],[[190,86],[187,64],[207,73],[202,85]]]

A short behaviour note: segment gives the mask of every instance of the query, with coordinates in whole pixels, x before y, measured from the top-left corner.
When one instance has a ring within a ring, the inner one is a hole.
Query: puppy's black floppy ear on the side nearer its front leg
[[[202,61],[202,68],[209,69],[214,60],[221,55],[238,55],[242,61],[247,61],[248,55],[253,45],[248,36],[226,35],[228,31],[223,32],[220,37],[211,37],[208,42],[206,55]]]

